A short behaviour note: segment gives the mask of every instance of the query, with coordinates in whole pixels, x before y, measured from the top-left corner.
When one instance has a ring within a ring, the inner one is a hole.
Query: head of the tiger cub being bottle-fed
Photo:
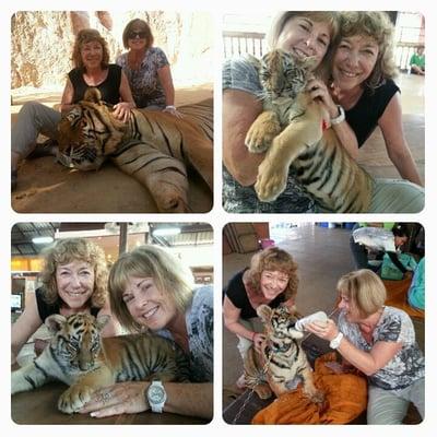
[[[295,329],[297,317],[284,305],[277,308],[270,308],[268,305],[260,305],[257,314],[264,323],[265,336],[268,341],[288,342],[298,340],[304,334]]]

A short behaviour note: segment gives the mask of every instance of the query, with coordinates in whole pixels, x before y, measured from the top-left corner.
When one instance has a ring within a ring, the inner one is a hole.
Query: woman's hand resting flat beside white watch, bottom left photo
[[[116,414],[132,414],[149,410],[145,390],[150,382],[119,382],[94,392],[90,402],[80,413],[90,413],[92,417],[107,417]]]

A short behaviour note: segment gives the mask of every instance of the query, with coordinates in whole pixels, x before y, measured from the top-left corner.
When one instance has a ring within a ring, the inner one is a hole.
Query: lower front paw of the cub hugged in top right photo
[[[273,167],[264,160],[258,167],[258,178],[255,184],[258,199],[262,202],[273,202],[286,187],[288,168]]]

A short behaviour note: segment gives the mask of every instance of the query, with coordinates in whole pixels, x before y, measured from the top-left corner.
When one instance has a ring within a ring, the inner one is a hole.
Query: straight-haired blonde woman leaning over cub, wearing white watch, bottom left
[[[156,246],[140,246],[115,262],[109,274],[110,307],[131,332],[145,330],[174,340],[188,355],[191,383],[165,382],[161,411],[212,418],[213,294],[193,290],[188,268]],[[119,382],[97,392],[82,411],[95,417],[152,409],[150,382]]]

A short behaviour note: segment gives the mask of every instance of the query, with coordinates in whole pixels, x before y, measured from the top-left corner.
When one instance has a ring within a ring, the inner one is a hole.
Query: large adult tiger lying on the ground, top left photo
[[[113,117],[98,90],[88,88],[84,101],[58,126],[58,160],[80,170],[92,170],[110,158],[147,188],[160,212],[189,212],[188,165],[212,190],[212,99],[178,109],[182,118],[133,109],[129,122],[123,123]]]

